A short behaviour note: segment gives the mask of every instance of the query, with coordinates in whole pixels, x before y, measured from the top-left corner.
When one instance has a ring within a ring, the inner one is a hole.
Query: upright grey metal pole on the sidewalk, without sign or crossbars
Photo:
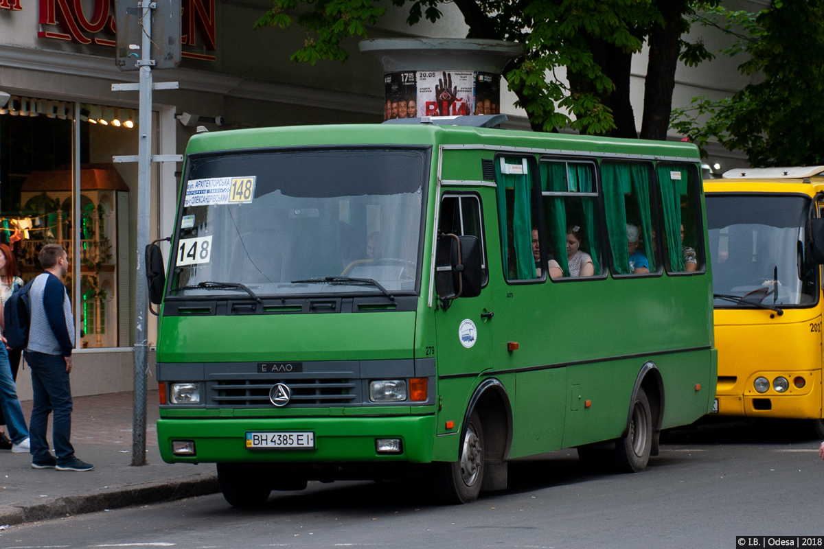
[[[138,249],[135,272],[134,327],[134,404],[132,421],[132,465],[146,464],[146,370],[148,288],[142,281],[145,271],[143,247],[149,241],[149,205],[152,199],[152,8],[149,0],[138,3],[143,8],[143,40],[140,65],[140,121],[138,127]]]

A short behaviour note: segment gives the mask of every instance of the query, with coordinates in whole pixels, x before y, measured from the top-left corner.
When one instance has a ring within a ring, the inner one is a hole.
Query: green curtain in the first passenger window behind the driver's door
[[[507,164],[521,165],[522,159],[504,160]],[[500,161],[495,162],[496,193],[501,234],[503,264],[508,266],[508,230],[506,189],[513,189],[513,252],[515,276],[519,280],[535,278],[535,261],[532,257],[531,184],[529,174],[503,174]]]

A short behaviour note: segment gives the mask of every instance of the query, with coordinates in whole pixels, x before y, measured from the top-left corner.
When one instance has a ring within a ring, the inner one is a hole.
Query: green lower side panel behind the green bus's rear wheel
[[[664,384],[662,428],[687,425],[704,416],[715,396],[714,353],[707,350],[653,357]]]

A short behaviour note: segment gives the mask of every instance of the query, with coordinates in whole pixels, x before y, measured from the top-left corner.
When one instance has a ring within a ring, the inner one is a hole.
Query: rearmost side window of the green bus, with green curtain
[[[704,258],[704,239],[699,238],[699,180],[694,165],[658,164],[655,168],[661,193],[664,263],[667,272],[693,272]]]

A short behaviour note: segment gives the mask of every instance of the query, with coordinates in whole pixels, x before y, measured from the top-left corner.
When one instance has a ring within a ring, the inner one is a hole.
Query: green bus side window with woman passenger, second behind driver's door
[[[541,195],[550,258],[559,264],[563,276],[600,275],[603,262],[598,244],[595,165],[542,161]]]

